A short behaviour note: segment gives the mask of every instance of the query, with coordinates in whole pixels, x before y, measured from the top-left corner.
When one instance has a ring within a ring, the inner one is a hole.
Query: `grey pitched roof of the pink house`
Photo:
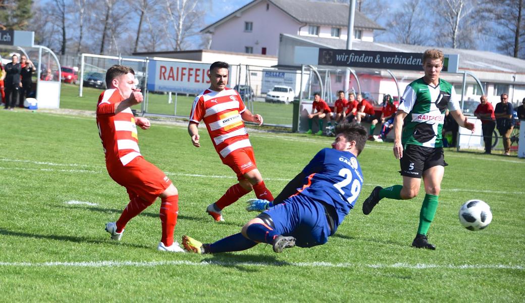
[[[254,0],[245,6],[237,9],[237,11],[219,19],[201,30],[206,32],[209,28],[217,26],[226,22],[228,19],[237,15],[238,12],[249,9],[256,3],[262,0]],[[315,2],[307,0],[267,0],[280,8],[284,13],[288,14],[293,19],[300,23],[316,24],[316,25],[332,25],[332,26],[348,26],[348,4],[332,3],[332,2]],[[354,19],[355,28],[363,29],[379,29],[384,30],[379,24],[367,18],[362,13],[355,11]]]

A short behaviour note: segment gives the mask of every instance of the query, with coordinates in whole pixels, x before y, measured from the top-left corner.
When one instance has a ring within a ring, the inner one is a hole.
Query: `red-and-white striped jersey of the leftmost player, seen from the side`
[[[131,108],[114,113],[115,103],[122,100],[124,98],[117,89],[108,89],[100,94],[97,103],[97,126],[108,169],[113,165],[126,165],[141,156]]]

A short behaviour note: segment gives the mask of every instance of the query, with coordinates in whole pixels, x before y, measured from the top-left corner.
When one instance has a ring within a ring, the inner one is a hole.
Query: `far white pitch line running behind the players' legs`
[[[60,169],[33,169],[33,168],[5,168],[0,166],[0,170],[23,170],[23,171],[49,171],[49,172],[73,172],[73,173],[107,173],[104,166],[90,166],[90,165],[84,165],[84,164],[59,164],[59,163],[50,163],[50,162],[39,162],[39,161],[29,161],[29,160],[12,160],[12,159],[4,159],[0,158],[1,161],[7,161],[7,162],[25,162],[25,163],[31,163],[31,164],[43,164],[43,165],[52,165],[52,166],[72,166],[72,167],[86,167],[86,168],[93,168],[96,170],[60,170]],[[172,172],[164,172],[167,176],[184,176],[184,177],[203,177],[203,178],[212,178],[212,179],[237,179],[236,176],[232,175],[203,175],[203,174],[185,174],[185,173],[172,173]],[[265,178],[265,180],[268,181],[290,181],[290,178]],[[371,184],[371,183],[364,183],[366,186],[376,186],[377,184]],[[509,194],[511,192],[508,191],[492,191],[492,190],[477,190],[477,189],[442,189],[442,191],[451,191],[451,192],[476,192],[476,193],[493,193],[493,194]],[[525,194],[525,192],[513,192],[513,194]]]

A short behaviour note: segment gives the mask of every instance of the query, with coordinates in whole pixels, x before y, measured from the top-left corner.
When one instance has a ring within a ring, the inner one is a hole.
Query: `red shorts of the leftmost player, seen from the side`
[[[139,196],[153,202],[171,184],[171,180],[157,166],[141,156],[125,166],[108,170],[108,173],[111,179],[126,188],[130,200]]]

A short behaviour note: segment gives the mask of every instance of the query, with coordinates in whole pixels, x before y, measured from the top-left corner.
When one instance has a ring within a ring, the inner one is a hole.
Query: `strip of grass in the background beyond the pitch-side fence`
[[[97,100],[101,92],[101,89],[84,87],[82,91],[83,96],[82,98],[79,98],[78,86],[62,83],[60,108],[94,110],[97,106]],[[179,95],[177,96],[175,103],[175,94],[173,94],[172,103],[170,104],[168,103],[167,95],[149,93],[147,105],[148,108],[145,110],[145,112],[189,117],[193,100],[195,100],[195,97]],[[251,107],[249,109],[251,110]],[[266,102],[253,102],[253,109],[255,113],[262,115],[266,124],[283,125],[289,126],[291,128],[293,109],[291,104],[285,105]],[[137,107],[137,110],[140,112],[141,108]]]

